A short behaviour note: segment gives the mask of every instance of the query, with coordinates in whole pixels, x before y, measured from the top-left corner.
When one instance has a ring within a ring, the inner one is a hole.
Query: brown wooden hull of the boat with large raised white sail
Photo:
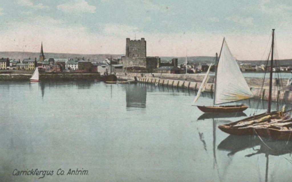
[[[246,105],[230,105],[230,106],[197,106],[202,112],[207,113],[231,113],[242,112],[248,108]]]

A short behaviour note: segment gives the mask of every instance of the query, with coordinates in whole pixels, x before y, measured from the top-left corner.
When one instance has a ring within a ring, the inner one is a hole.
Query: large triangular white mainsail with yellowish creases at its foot
[[[216,70],[215,104],[253,97],[224,39]]]

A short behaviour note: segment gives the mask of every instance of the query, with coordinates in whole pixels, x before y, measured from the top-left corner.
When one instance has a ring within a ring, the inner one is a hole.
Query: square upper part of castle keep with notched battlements
[[[130,38],[126,38],[126,56],[131,58],[146,57],[145,38],[141,38],[141,40],[130,40]]]

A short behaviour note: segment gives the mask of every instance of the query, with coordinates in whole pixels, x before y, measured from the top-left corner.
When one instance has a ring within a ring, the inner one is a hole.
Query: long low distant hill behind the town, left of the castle
[[[83,58],[90,59],[90,61],[103,61],[105,58],[109,58],[112,55],[112,58],[117,59],[124,56],[124,54],[69,54],[69,53],[50,53],[46,52],[46,58]],[[0,52],[1,58],[9,58],[9,59],[34,59],[39,60],[39,52]]]

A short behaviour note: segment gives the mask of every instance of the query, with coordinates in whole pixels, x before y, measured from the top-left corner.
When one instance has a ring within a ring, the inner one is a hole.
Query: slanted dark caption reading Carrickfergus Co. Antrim
[[[62,175],[88,175],[88,170],[84,170],[83,168],[72,170],[71,168],[65,173],[64,170],[58,169],[57,173],[58,176]],[[44,178],[45,176],[53,176],[54,171],[53,170],[39,170],[39,169],[31,169],[31,170],[21,170],[14,169],[12,172],[13,176],[41,176],[39,179]]]

